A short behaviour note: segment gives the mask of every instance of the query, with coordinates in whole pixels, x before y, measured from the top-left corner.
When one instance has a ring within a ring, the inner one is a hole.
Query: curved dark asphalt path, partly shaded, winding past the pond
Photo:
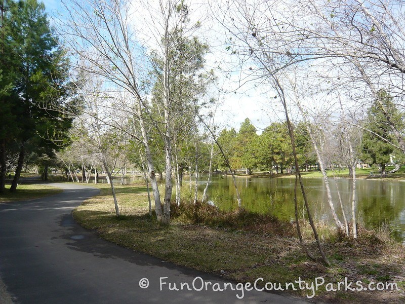
[[[74,222],[71,210],[98,189],[53,184],[64,192],[32,201],[0,204],[0,276],[18,303],[303,303],[283,294],[238,290],[170,291],[162,282],[218,277],[177,267],[99,239]],[[149,279],[142,289],[139,281]],[[1,280],[0,280],[1,281]],[[0,282],[1,283],[1,282]],[[1,284],[0,284],[1,285]],[[200,286],[196,279],[195,287]],[[208,285],[210,286],[210,285]],[[229,287],[228,287],[229,288]]]

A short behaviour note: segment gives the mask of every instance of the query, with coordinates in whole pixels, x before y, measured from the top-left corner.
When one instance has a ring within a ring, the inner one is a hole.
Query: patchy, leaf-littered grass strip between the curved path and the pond
[[[148,215],[147,195],[143,185],[117,185],[115,191],[121,216],[114,214],[110,189],[97,185],[101,193],[73,211],[74,218],[87,229],[108,241],[132,250],[197,270],[217,274],[235,282],[294,282],[301,277],[308,283],[322,277],[336,284],[344,281],[395,282],[400,291],[316,291],[315,301],[331,303],[403,303],[405,302],[405,250],[391,240],[385,230],[359,229],[358,241],[341,238],[329,227],[318,224],[324,250],[331,267],[309,260],[295,237],[293,224],[284,231],[270,227],[263,232],[196,224],[184,216],[174,216],[170,227],[160,226]],[[265,227],[266,223],[260,223]],[[302,230],[307,246],[316,253],[315,243],[306,223]],[[336,285],[335,285],[336,287]],[[305,296],[307,291],[293,292]],[[310,293],[310,292],[309,292]]]

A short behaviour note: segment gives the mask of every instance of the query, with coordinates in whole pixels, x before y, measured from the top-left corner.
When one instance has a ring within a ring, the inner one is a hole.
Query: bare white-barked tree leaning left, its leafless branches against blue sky
[[[133,7],[127,1],[72,1],[64,4],[69,16],[61,21],[61,34],[73,56],[80,58],[87,72],[105,79],[109,90],[128,94],[126,112],[139,122],[157,219],[166,222],[160,205],[160,194],[149,144],[147,127],[148,58],[140,46],[137,31],[131,23]],[[80,62],[82,62],[80,61]],[[82,64],[81,64],[82,65]]]

